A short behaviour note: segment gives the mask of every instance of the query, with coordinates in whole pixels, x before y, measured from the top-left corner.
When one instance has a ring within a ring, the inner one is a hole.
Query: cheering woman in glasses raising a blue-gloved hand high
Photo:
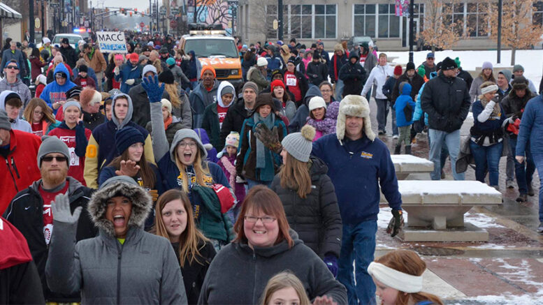
[[[225,214],[234,202],[228,179],[219,165],[205,161],[208,151],[195,131],[180,129],[168,145],[160,103],[164,84],[159,86],[155,76],[144,78],[143,87],[151,102],[153,152],[165,188],[180,188],[189,195],[198,228],[219,251],[232,237],[231,222]]]

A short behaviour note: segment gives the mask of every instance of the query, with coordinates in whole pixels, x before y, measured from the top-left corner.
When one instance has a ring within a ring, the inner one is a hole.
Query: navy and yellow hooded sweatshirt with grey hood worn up
[[[85,158],[84,174],[85,182],[89,188],[98,188],[99,171],[113,161],[113,158],[119,156],[119,154],[117,154],[117,149],[115,148],[115,133],[117,133],[118,129],[123,128],[124,126],[132,126],[140,131],[145,138],[145,158],[148,162],[155,164],[151,136],[149,132],[147,132],[145,128],[131,121],[133,105],[130,96],[127,94],[117,94],[114,96],[111,104],[112,111],[115,109],[115,102],[120,97],[124,97],[128,100],[128,112],[126,112],[126,117],[122,123],[120,123],[119,119],[113,115],[110,121],[106,121],[105,123],[94,128],[92,135],[89,138],[89,148],[87,148],[89,153]]]

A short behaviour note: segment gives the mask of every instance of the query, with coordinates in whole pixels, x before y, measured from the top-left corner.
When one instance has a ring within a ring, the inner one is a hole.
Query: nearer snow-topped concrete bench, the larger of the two
[[[404,241],[488,241],[488,232],[464,222],[475,206],[502,204],[502,193],[479,181],[398,181],[407,223]]]

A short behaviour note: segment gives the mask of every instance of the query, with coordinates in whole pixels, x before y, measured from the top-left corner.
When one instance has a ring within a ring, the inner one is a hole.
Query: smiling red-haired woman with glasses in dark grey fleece
[[[300,278],[312,301],[347,304],[345,287],[290,230],[281,200],[266,186],[251,189],[234,230],[236,239],[211,262],[198,304],[259,304],[268,280],[284,270]]]

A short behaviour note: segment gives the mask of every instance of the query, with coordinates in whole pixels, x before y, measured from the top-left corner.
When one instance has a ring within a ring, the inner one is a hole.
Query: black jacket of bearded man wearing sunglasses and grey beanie
[[[92,223],[89,212],[87,211],[87,204],[93,190],[82,186],[82,184],[71,177],[68,177],[68,179],[71,212],[73,213],[76,207],[83,207],[75,239],[80,241],[96,237],[98,230],[94,227],[94,223]],[[43,237],[43,200],[37,189],[40,183],[41,180],[36,181],[27,189],[17,193],[8,209],[6,209],[4,218],[12,223],[22,233],[24,238],[27,239],[32,259],[36,263],[36,267],[38,267],[45,300],[47,302],[62,303],[80,302],[79,292],[73,295],[61,295],[49,290],[45,281],[45,262],[47,262],[49,255],[49,247],[45,244],[45,238]],[[75,189],[73,189],[74,187]],[[55,234],[55,228],[53,228],[53,234]]]

